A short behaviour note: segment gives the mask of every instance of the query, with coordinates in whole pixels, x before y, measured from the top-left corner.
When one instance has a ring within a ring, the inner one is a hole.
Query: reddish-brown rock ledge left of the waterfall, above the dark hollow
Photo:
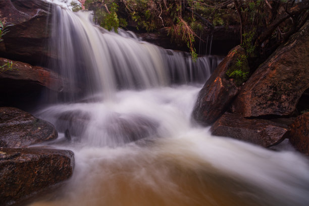
[[[31,66],[23,62],[16,62],[4,58],[0,58],[0,65],[5,65],[7,63],[13,63],[13,66],[10,70],[0,73],[1,81],[13,82],[12,85],[6,83],[6,88],[14,87],[13,84],[18,82],[24,82],[27,85],[42,85],[50,90],[57,92],[68,92],[68,80],[62,78],[59,74],[49,71],[43,67]],[[6,69],[6,67],[4,67]],[[2,83],[0,83],[0,90],[2,88]],[[19,89],[20,86],[18,86]]]

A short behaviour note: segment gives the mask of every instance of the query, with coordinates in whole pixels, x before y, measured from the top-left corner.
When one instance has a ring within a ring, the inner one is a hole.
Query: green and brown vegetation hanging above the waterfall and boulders
[[[282,42],[308,18],[308,1],[210,1],[210,0],[80,0],[81,8],[94,11],[94,21],[117,32],[134,25],[137,30],[168,31],[171,39],[187,45],[197,57],[196,40],[216,27],[239,26],[240,43],[252,70],[255,70]],[[121,11],[118,8],[121,7]],[[121,18],[120,18],[121,17]]]

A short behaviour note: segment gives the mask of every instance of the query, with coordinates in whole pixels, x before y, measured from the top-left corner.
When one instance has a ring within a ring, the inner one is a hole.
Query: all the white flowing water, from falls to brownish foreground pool
[[[309,204],[307,159],[191,124],[196,83],[216,58],[194,63],[99,29],[86,13],[56,10],[51,48],[62,60],[52,65],[83,95],[37,116],[57,127],[60,138],[48,144],[73,150],[76,166],[60,191],[31,205]]]

